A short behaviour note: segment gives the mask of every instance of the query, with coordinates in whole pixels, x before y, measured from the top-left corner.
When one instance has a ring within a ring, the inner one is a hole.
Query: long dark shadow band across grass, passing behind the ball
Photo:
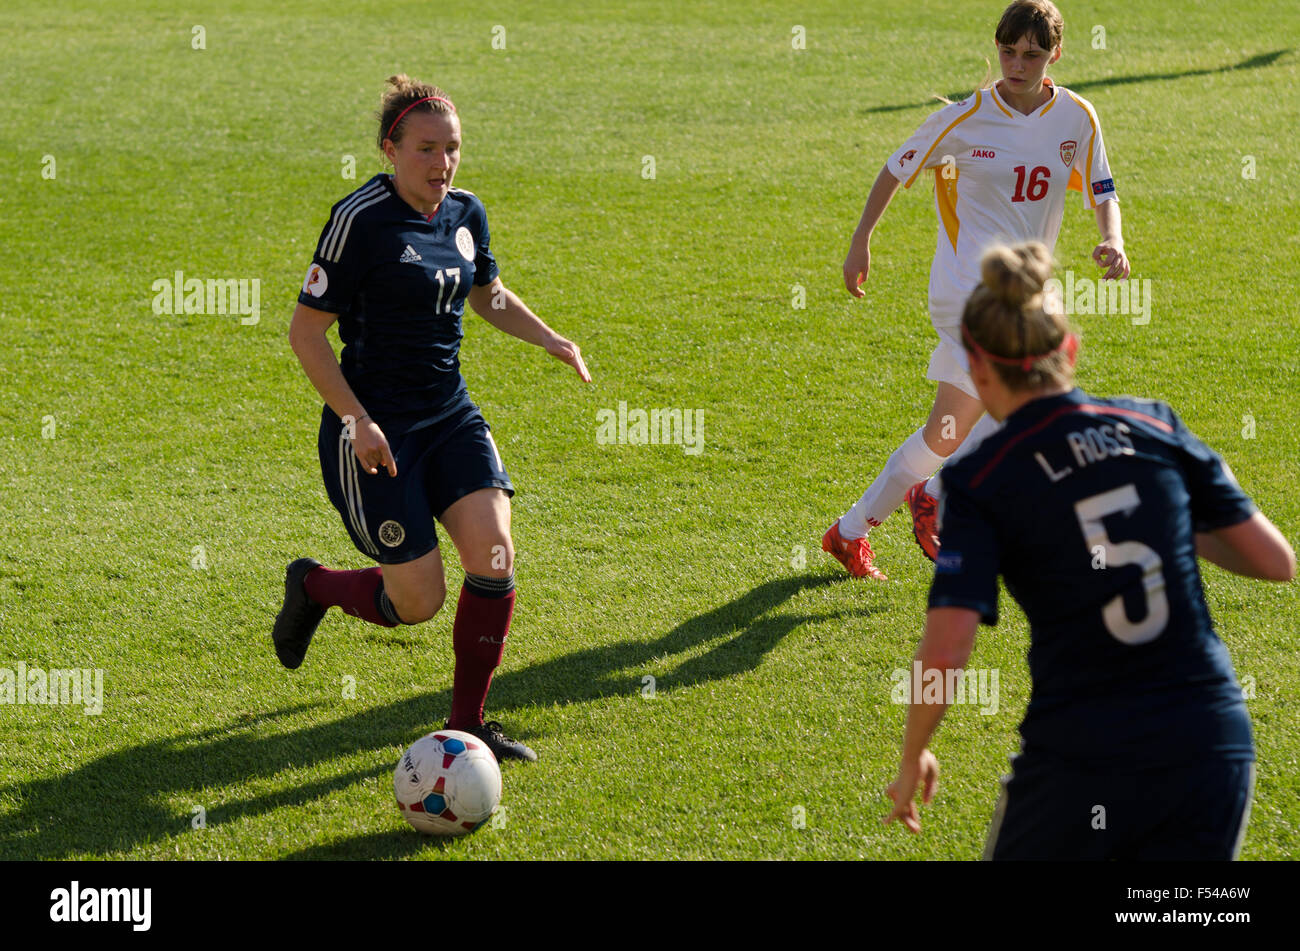
[[[768,581],[679,624],[660,638],[589,647],[520,670],[507,670],[493,685],[490,709],[497,716],[537,704],[638,696],[645,673],[659,679],[656,690],[663,692],[753,670],[796,628],[842,616],[844,612],[777,611],[800,592],[836,581],[838,576]],[[703,653],[688,659],[676,670],[664,669],[667,657],[703,646],[708,646]],[[450,672],[437,676],[450,679]],[[285,807],[311,808],[315,800],[359,782],[374,786],[378,808],[391,795],[393,764],[390,755],[382,751],[404,747],[439,725],[451,705],[451,691],[420,694],[292,730],[276,724],[294,715],[315,712],[320,716],[332,705],[328,702],[295,704],[243,715],[225,726],[105,754],[57,777],[0,787],[0,803],[4,803],[0,860],[100,856],[173,835],[209,834],[242,817]],[[354,763],[351,768],[329,765],[332,760],[355,760],[368,754],[381,761],[361,767]],[[306,783],[276,778],[303,769],[316,769],[324,776]],[[212,794],[205,792],[229,786],[270,787],[270,791],[225,803],[211,802]],[[196,807],[204,809],[204,830],[194,830],[199,817]],[[311,846],[290,857],[386,859],[426,847],[430,847],[428,841],[394,822],[391,834],[363,834]]]

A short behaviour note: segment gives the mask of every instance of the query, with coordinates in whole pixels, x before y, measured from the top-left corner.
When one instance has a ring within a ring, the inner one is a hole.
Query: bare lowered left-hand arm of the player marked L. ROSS
[[[926,677],[927,672],[936,670],[941,682],[946,685],[948,670],[966,669],[966,661],[970,660],[975,647],[978,626],[979,612],[970,608],[931,608],[926,613],[926,634],[914,657],[920,664],[922,676]],[[915,687],[909,677],[910,703],[907,725],[902,735],[902,755],[898,759],[898,776],[885,787],[885,794],[893,799],[894,807],[884,821],[889,825],[897,818],[911,831],[919,833],[916,790],[920,789],[923,803],[931,802],[939,790],[939,760],[930,751],[930,739],[939,729],[950,698],[941,692],[939,703],[926,703],[915,695]]]

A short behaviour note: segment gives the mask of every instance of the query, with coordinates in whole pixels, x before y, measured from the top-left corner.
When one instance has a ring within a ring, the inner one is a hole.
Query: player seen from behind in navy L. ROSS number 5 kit
[[[1050,275],[1043,244],[994,247],[966,303],[971,379],[1004,425],[942,470],[915,661],[935,672],[923,682],[966,666],[1001,574],[1030,621],[1032,692],[985,857],[1231,859],[1254,747],[1197,556],[1290,581],[1295,553],[1166,404],[1074,387]],[[913,692],[887,821],[920,830],[914,796],[935,794],[927,744],[952,700]]]

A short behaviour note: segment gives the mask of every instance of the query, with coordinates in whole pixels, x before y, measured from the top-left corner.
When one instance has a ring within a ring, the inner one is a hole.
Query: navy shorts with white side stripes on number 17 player
[[[469,492],[515,494],[488,422],[473,404],[433,426],[385,437],[398,464],[396,478],[387,469],[365,472],[334,411],[325,407],[321,413],[317,450],[325,491],[356,550],[381,565],[412,561],[437,548],[433,520]]]

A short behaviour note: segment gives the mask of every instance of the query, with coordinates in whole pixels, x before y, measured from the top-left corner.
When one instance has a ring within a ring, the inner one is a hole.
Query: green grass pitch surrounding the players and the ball
[[[1075,318],[1079,382],[1173,403],[1295,544],[1300,13],[1061,6],[1050,75],[1097,107],[1154,295],[1147,325]],[[818,546],[933,395],[930,186],[894,199],[861,301],[849,235],[931,94],[984,75],[1001,8],[9,0],[0,666],[99,668],[105,692],[98,716],[0,705],[0,857],[978,857],[1028,695],[1023,616],[1004,595],[980,630],[1000,708],[949,711],[923,833],[884,828],[890,672],[928,563],[904,513],[872,535],[885,585]],[[286,561],[368,564],[325,498],[286,330],[330,204],[381,168],[395,71],[456,100],[456,184],[503,279],[595,378],[465,320],[519,490],[489,715],[542,759],[503,770],[497,828],[450,843],[390,789],[450,705],[450,607],[395,630],[332,612],[295,673],[268,637]],[[1071,194],[1061,266],[1093,275],[1095,239]],[[260,320],[153,313],[177,270],[256,278]],[[598,443],[620,401],[702,412],[703,452]],[[1253,685],[1243,857],[1291,857],[1300,589],[1213,566],[1205,585]]]

